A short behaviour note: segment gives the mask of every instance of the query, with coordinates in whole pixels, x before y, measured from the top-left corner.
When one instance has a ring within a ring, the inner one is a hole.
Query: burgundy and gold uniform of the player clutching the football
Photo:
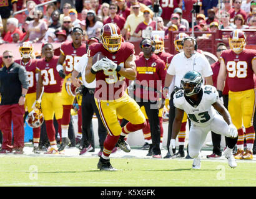
[[[127,58],[134,56],[134,45],[129,42],[122,42],[120,49],[114,53],[106,50],[103,45],[99,43],[91,44],[87,53],[88,57],[93,57],[97,52],[102,52],[117,65],[124,67]],[[116,70],[100,70],[96,73],[94,98],[102,122],[108,132],[104,142],[104,157],[109,157],[121,133],[129,134],[129,132],[137,131],[145,125],[145,117],[140,111],[139,105],[126,93],[125,79]],[[127,119],[129,123],[121,127],[117,114],[121,118]]]

